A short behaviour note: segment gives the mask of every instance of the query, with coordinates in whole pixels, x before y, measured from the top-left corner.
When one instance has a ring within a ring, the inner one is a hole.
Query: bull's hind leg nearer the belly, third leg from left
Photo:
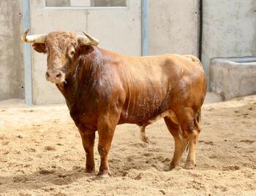
[[[168,130],[170,131],[170,134],[173,135],[175,143],[173,159],[170,162],[170,170],[172,170],[181,161],[184,148],[186,148],[187,146],[187,141],[184,140],[184,137],[182,136],[180,125],[172,121],[172,119],[169,116],[165,117],[165,124]]]

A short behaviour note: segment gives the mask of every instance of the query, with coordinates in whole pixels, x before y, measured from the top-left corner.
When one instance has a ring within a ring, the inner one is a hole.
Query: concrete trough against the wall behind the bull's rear
[[[256,57],[212,59],[211,91],[222,100],[256,94]]]

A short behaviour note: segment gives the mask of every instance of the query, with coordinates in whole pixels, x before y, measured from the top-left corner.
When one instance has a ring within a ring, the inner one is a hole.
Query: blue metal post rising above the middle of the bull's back
[[[141,0],[142,56],[148,54],[148,0]]]

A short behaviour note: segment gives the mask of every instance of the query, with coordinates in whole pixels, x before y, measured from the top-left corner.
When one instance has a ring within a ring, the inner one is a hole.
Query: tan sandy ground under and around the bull
[[[6,106],[6,107],[4,107]],[[116,129],[112,177],[84,172],[85,153],[67,107],[0,105],[0,195],[256,195],[256,96],[203,106],[197,166],[165,171],[173,137],[160,120]],[[95,145],[96,168],[99,154]]]

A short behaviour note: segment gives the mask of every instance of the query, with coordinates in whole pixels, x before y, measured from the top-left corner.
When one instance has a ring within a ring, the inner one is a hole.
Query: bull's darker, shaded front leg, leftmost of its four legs
[[[95,131],[90,129],[79,129],[82,137],[83,148],[86,151],[86,173],[94,172],[94,140]]]

